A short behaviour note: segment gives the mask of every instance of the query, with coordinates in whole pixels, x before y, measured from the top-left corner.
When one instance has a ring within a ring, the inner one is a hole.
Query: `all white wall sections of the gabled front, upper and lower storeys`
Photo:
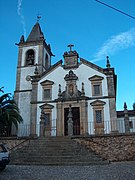
[[[69,73],[69,69],[63,69],[63,67],[58,66],[54,71],[48,73],[45,75],[38,83],[38,101],[42,101],[42,95],[43,95],[43,89],[40,83],[42,83],[45,80],[50,80],[53,81],[54,84],[52,86],[52,100],[58,98],[58,89],[59,89],[59,84],[61,84],[61,91],[65,91],[66,87],[66,81],[64,80],[64,77],[66,74]],[[107,79],[105,74],[102,74],[84,64],[81,64],[79,68],[73,69],[73,72],[76,74],[78,77],[77,80],[77,87],[78,90],[81,91],[82,89],[82,82],[84,82],[84,89],[85,89],[85,95],[88,97],[92,97],[92,87],[91,87],[91,82],[88,78],[98,75],[103,77],[104,79],[102,80],[102,95],[103,96],[108,96],[108,90],[107,90]],[[109,110],[109,100],[108,99],[99,99],[101,101],[104,101],[106,104],[104,106],[104,120],[105,121],[110,121],[110,110]],[[91,102],[95,100],[89,100],[88,101],[88,128],[89,128],[89,133],[94,134],[94,122],[93,122],[93,107],[90,105]],[[56,104],[55,103],[49,103],[54,106],[52,109],[52,119],[54,119],[54,125],[56,124],[56,117],[57,117],[57,112],[56,112]],[[43,104],[40,104],[40,106]],[[37,112],[37,124],[40,121],[40,113],[41,110],[38,105],[38,112]],[[108,126],[107,123],[105,123],[105,132],[109,133],[110,132],[110,126]],[[52,132],[54,135],[55,133]]]

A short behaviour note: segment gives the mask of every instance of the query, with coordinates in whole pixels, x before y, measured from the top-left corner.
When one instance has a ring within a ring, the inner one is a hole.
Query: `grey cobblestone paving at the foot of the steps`
[[[135,162],[96,166],[8,165],[0,180],[135,180]]]

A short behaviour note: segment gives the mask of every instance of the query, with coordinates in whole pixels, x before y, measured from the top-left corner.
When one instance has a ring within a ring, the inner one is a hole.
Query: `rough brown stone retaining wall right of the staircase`
[[[75,138],[109,161],[135,161],[135,134],[115,134]]]

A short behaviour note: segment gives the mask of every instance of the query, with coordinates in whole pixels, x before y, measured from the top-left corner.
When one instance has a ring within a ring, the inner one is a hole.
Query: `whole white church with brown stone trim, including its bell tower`
[[[14,98],[23,117],[18,135],[67,136],[116,132],[116,83],[107,57],[101,68],[68,45],[63,61],[53,53],[37,22],[18,43]]]

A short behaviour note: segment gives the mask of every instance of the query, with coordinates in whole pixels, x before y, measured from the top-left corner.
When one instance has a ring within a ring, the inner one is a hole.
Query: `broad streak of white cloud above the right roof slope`
[[[107,55],[113,55],[120,50],[132,47],[135,45],[135,28],[127,32],[122,32],[116,36],[110,37],[95,54],[94,60],[100,61]]]

